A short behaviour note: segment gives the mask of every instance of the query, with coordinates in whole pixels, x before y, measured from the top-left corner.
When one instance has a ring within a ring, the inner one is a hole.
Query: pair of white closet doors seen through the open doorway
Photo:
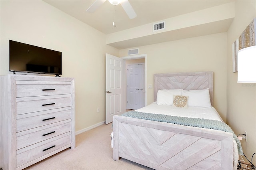
[[[127,109],[140,109],[145,106],[145,64],[128,65],[128,104]]]

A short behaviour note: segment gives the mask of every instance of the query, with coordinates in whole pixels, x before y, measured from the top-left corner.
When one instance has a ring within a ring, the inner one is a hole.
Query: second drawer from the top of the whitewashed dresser
[[[70,106],[71,95],[21,97],[16,98],[16,115]]]

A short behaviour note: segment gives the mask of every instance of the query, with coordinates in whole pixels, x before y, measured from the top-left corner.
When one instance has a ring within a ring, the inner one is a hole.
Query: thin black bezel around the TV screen
[[[61,63],[60,73],[46,73],[46,72],[39,72],[39,71],[11,70],[11,69],[10,69],[10,42],[17,42],[17,41],[9,40],[9,71],[13,72],[13,74],[16,74],[16,72],[18,72],[18,73],[48,74],[48,75],[56,75],[56,76],[62,75],[62,55],[61,55],[61,57],[60,57],[60,63]],[[22,43],[22,42],[18,42],[18,43]],[[22,43],[22,44],[31,45],[31,44],[27,44],[27,43]],[[31,45],[31,46],[39,47],[39,46],[36,46],[36,45]],[[39,47],[39,48],[41,48],[41,49],[46,49],[46,50],[50,50],[50,51],[56,51],[56,50],[48,49],[48,48],[44,48],[44,47]],[[59,52],[59,53],[62,54],[61,51],[56,51],[56,52]]]

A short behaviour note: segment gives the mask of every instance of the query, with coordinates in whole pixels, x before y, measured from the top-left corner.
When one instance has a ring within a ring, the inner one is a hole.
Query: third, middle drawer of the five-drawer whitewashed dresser
[[[16,115],[16,132],[71,119],[71,107]]]

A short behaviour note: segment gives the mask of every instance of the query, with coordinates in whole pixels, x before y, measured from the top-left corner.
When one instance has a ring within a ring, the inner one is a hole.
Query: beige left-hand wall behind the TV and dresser
[[[62,51],[62,76],[75,78],[76,131],[105,121],[106,35],[43,1],[0,1],[0,75],[9,72],[9,40]],[[97,113],[100,107],[100,113]]]

